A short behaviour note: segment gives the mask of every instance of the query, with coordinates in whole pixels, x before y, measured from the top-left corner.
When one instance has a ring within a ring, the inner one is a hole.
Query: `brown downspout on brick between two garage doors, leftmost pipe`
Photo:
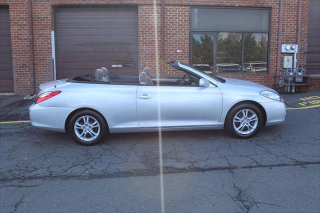
[[[29,39],[29,62],[30,62],[30,86],[31,95],[34,95],[34,57],[33,57],[33,29],[32,29],[32,0],[28,0],[28,39]]]

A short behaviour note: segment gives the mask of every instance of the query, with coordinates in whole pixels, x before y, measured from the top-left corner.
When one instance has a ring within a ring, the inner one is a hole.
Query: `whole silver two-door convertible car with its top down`
[[[109,75],[101,67],[42,83],[29,107],[31,124],[92,145],[109,133],[158,130],[225,129],[248,138],[285,119],[284,101],[266,86],[211,76],[176,60],[169,65],[176,76],[151,77],[147,67],[139,76]]]

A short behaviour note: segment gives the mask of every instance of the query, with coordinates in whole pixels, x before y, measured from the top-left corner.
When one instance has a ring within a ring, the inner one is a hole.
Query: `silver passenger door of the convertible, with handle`
[[[220,119],[218,87],[138,85],[136,110],[141,128],[214,126]]]

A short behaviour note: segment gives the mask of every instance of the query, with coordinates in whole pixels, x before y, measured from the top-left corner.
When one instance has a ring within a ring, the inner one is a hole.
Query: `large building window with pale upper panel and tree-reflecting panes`
[[[269,9],[190,8],[190,63],[207,73],[267,71]]]

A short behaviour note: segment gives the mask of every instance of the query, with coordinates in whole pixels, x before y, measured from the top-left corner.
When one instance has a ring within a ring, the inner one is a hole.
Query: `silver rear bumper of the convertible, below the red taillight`
[[[74,108],[70,107],[40,106],[32,103],[29,106],[29,116],[35,127],[65,132],[65,120],[73,110]]]

